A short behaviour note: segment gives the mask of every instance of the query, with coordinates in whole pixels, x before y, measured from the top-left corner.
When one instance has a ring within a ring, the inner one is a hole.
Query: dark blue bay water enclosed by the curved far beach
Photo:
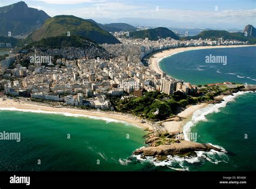
[[[225,63],[206,63],[206,56],[226,56]],[[256,84],[256,47],[191,50],[159,63],[170,76],[192,84],[219,82]]]

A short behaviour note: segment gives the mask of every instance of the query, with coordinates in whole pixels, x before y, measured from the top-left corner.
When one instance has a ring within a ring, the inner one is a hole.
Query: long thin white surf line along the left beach
[[[19,111],[19,112],[31,112],[31,113],[45,113],[45,114],[59,114],[67,117],[85,117],[89,119],[96,119],[96,120],[104,120],[107,124],[110,122],[116,122],[116,123],[123,123],[125,125],[131,125],[125,121],[122,120],[116,120],[116,119],[111,119],[107,117],[97,117],[97,116],[88,116],[85,114],[79,114],[79,113],[68,113],[68,112],[58,112],[58,111],[43,111],[43,110],[27,110],[27,109],[17,109],[16,107],[0,107],[0,110],[4,111]]]

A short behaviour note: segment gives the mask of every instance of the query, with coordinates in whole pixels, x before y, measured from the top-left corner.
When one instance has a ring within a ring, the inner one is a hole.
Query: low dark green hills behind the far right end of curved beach
[[[224,40],[239,40],[242,42],[246,42],[248,40],[249,43],[255,43],[256,38],[249,36],[245,36],[245,33],[242,32],[228,32],[224,30],[208,30],[202,31],[196,36],[186,37],[185,39],[213,39],[218,40],[219,38],[223,38]]]

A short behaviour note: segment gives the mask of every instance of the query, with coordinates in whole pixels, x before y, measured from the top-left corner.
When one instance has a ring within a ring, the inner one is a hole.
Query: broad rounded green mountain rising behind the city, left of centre
[[[47,19],[44,24],[26,39],[26,43],[38,41],[43,38],[62,35],[80,35],[96,43],[120,43],[109,32],[101,29],[95,23],[75,16],[60,15]]]

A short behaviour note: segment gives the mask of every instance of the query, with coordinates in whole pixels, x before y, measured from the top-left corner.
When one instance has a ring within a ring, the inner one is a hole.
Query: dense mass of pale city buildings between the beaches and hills
[[[118,33],[114,35],[119,36]],[[59,58],[55,64],[49,64],[41,60],[33,62],[31,57],[39,56],[47,60],[48,56],[61,56],[64,52],[61,49],[52,52],[35,51],[35,55],[32,55],[26,51],[11,51],[0,64],[3,76],[0,89],[6,95],[52,100],[66,105],[86,105],[96,109],[112,109],[107,95],[140,97],[143,91],[160,91],[166,95],[180,91],[184,95],[193,95],[197,93],[196,86],[168,77],[165,72],[157,73],[144,65],[142,59],[152,52],[170,48],[245,44],[222,39],[118,39],[122,44],[102,44],[113,56],[112,59],[90,59],[78,49],[70,48],[71,54],[77,56],[70,54],[69,58]],[[10,47],[11,44],[0,46]],[[28,66],[21,65],[25,59],[30,60]]]

